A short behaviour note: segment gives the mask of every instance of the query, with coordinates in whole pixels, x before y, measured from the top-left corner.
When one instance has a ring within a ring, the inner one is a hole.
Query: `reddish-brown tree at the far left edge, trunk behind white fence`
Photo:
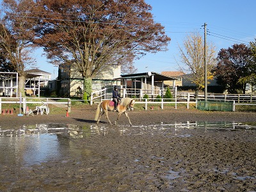
[[[25,68],[35,66],[35,61],[30,54],[33,50],[31,43],[31,20],[26,17],[33,9],[33,1],[4,0],[4,10],[0,20],[0,49],[5,60],[10,63],[10,68],[19,74],[18,93],[24,96],[26,80]]]

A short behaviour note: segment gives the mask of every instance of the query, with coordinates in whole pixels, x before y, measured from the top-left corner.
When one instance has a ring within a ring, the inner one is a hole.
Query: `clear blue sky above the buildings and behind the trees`
[[[217,52],[234,44],[248,44],[256,38],[255,0],[145,0],[152,6],[154,20],[160,22],[166,34],[172,38],[168,51],[148,54],[134,66],[138,72],[157,72],[179,70],[178,44],[189,32],[199,31],[204,35],[204,23],[209,35],[207,42],[216,45]],[[218,36],[218,37],[216,37]],[[247,42],[247,43],[246,43]],[[58,68],[47,63],[41,52],[35,52],[38,67],[56,77]]]

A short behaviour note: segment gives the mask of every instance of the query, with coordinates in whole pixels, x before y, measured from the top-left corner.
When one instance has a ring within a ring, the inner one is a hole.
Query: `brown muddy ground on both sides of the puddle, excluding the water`
[[[96,106],[61,114],[0,115],[0,128],[96,125]],[[256,113],[169,108],[129,111],[108,134],[68,141],[72,155],[28,167],[0,164],[0,191],[256,191],[256,130],[150,129],[174,122],[256,122]],[[109,113],[111,121],[116,113]],[[141,134],[143,132],[143,134]],[[1,139],[1,137],[0,137]],[[1,150],[0,150],[1,152]]]

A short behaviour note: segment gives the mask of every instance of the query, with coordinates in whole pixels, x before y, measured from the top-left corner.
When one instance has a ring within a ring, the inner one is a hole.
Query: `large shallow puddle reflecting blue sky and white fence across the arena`
[[[0,164],[26,166],[58,160],[61,157],[77,156],[81,154],[81,148],[72,142],[73,139],[142,134],[151,136],[161,134],[166,137],[191,136],[188,133],[184,134],[182,132],[184,129],[256,130],[256,127],[235,122],[176,122],[140,126],[36,124],[23,126],[20,129],[0,129]],[[90,152],[86,151],[86,154]],[[170,175],[172,176],[171,173]]]

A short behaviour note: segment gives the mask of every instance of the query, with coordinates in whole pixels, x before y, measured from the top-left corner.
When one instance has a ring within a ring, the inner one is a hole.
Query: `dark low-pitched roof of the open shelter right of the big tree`
[[[154,76],[154,81],[171,81],[176,80],[176,78],[164,76],[158,74],[156,72],[144,72],[139,74],[129,74],[129,75],[121,75],[121,77],[116,79],[140,79],[143,77],[147,77],[147,79],[151,79],[151,76]]]

